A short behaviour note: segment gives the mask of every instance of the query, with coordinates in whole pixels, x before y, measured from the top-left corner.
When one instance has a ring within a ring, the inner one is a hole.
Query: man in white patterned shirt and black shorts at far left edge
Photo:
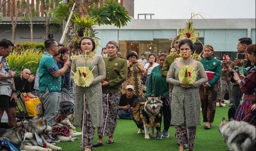
[[[15,89],[13,77],[14,71],[10,71],[6,57],[12,51],[14,44],[10,40],[0,41],[0,121],[4,111],[8,115],[9,127],[14,127],[17,123],[15,106],[17,101],[17,91]]]

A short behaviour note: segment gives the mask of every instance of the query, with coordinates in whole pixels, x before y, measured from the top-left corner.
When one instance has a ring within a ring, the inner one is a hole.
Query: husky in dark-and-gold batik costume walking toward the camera
[[[162,107],[162,101],[160,97],[145,97],[144,106],[141,105],[138,109],[138,113],[133,114],[133,120],[137,124],[139,131],[142,133],[142,129],[145,131],[145,139],[155,137],[154,127],[160,126],[159,118],[161,118],[160,109]]]

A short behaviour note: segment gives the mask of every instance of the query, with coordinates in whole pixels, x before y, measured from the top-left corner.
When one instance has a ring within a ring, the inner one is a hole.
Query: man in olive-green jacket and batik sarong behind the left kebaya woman
[[[106,45],[108,57],[105,59],[106,79],[102,80],[103,125],[98,127],[99,139],[93,147],[102,146],[103,136],[108,136],[107,144],[112,144],[117,124],[118,104],[121,97],[120,87],[127,77],[126,60],[116,56],[118,43],[110,41]]]

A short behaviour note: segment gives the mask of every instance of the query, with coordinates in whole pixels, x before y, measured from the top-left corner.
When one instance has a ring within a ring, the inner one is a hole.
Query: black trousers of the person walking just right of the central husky
[[[171,103],[165,97],[161,97],[162,108],[160,113],[164,116],[164,131],[168,131],[171,124]],[[156,130],[161,130],[162,118],[160,119],[160,127],[156,127]]]

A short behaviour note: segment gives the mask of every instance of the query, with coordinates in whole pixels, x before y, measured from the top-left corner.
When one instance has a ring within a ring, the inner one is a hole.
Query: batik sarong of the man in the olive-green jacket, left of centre
[[[117,125],[118,104],[120,92],[103,94],[103,119],[104,124],[98,127],[98,135],[112,136]]]

